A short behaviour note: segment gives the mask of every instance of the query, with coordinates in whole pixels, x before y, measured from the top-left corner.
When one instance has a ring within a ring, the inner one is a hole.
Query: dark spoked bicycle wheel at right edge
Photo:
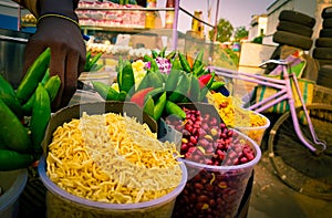
[[[279,178],[294,190],[304,195],[332,199],[332,105],[308,105],[315,134],[326,143],[321,155],[309,150],[298,138],[290,112],[272,126],[268,139],[269,159]],[[302,107],[297,114],[303,113]],[[308,125],[300,124],[304,137],[312,142]],[[312,143],[311,143],[312,144]]]

